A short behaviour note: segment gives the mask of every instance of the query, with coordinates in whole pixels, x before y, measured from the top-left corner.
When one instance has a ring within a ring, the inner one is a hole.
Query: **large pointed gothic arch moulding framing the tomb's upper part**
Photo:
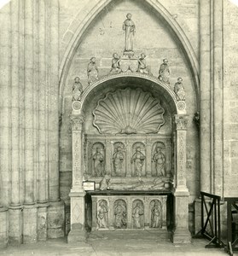
[[[114,0],[100,0],[96,4],[94,2],[88,3],[84,9],[82,9],[77,17],[73,20],[71,26],[69,26],[68,31],[73,32],[73,36],[69,42],[67,42],[67,49],[61,61],[60,67],[60,112],[62,108],[62,94],[67,78],[67,72],[69,67],[71,66],[71,62],[73,60],[73,56],[78,49],[78,45],[80,44],[80,38],[82,38],[84,32],[90,26],[90,23],[96,18],[96,16],[102,11],[102,9],[106,8],[109,3],[112,3]],[[199,88],[199,63],[194,54],[194,49],[189,43],[189,39],[186,37],[183,29],[177,21],[171,16],[169,11],[165,9],[165,7],[154,0],[144,0],[145,3],[154,9],[158,15],[160,15],[165,22],[170,27],[171,31],[177,36],[177,40],[180,43],[181,49],[183,49],[183,53],[189,63],[189,69],[194,79],[194,87],[195,93],[197,97],[197,108],[199,108],[199,98],[200,98],[200,88]],[[77,28],[74,28],[77,27]]]

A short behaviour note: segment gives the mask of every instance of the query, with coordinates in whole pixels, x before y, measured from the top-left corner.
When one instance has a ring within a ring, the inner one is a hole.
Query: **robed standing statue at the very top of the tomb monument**
[[[125,52],[133,51],[133,39],[136,32],[136,26],[131,20],[131,14],[126,15],[122,29],[125,30]]]

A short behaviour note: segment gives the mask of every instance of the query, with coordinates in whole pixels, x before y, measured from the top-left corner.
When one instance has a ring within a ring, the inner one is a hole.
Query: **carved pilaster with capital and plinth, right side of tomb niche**
[[[186,185],[186,136],[188,115],[175,115],[177,129],[176,145],[176,188],[175,197],[175,231],[173,243],[190,243],[189,232],[189,190]]]

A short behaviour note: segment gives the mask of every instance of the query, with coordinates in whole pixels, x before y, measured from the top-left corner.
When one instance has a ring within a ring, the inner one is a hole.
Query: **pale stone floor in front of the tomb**
[[[195,239],[189,245],[175,246],[156,232],[104,231],[91,233],[87,243],[67,244],[67,239],[51,239],[19,247],[0,249],[0,255],[84,255],[84,256],[153,256],[153,255],[228,255],[223,249],[205,248],[206,240]]]

